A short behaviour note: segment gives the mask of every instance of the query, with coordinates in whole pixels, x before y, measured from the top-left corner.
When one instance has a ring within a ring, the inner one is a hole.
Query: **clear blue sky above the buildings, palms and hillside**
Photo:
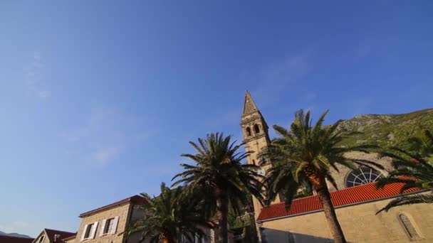
[[[432,107],[432,1],[1,1],[0,230],[157,194],[212,131]]]

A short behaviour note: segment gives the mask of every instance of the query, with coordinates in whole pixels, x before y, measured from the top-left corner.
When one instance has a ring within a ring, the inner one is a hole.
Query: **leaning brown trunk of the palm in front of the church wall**
[[[330,233],[333,235],[335,243],[346,243],[343,229],[341,229],[340,222],[338,222],[337,215],[335,214],[333,203],[330,200],[330,193],[325,178],[322,178],[320,175],[311,175],[308,179],[313,185],[313,188],[322,203],[326,222],[328,222]]]

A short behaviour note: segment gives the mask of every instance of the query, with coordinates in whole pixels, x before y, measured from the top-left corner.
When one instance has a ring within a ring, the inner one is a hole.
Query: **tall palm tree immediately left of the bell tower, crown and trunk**
[[[182,163],[184,172],[174,176],[173,185],[184,184],[185,193],[196,193],[206,207],[206,212],[215,215],[219,223],[219,242],[226,243],[229,206],[239,215],[243,205],[249,203],[249,193],[261,197],[261,175],[259,166],[244,164],[249,153],[240,152],[243,144],[231,142],[231,136],[222,133],[207,134],[190,141],[196,153],[182,156],[194,161],[194,165]],[[210,215],[209,215],[210,216]]]

